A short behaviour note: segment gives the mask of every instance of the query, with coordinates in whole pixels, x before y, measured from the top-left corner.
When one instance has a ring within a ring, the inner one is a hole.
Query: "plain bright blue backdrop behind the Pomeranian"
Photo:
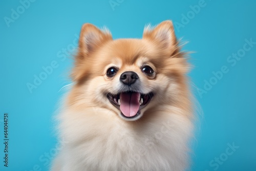
[[[141,38],[145,24],[166,19],[175,23],[178,38],[189,41],[183,49],[196,52],[190,55],[195,67],[189,76],[203,114],[191,170],[256,170],[256,45],[236,65],[227,61],[232,53],[243,52],[245,39],[256,41],[256,2],[205,0],[195,13],[190,6],[198,4],[198,0],[119,0],[112,8],[109,0],[37,0],[22,11],[17,0],[1,1],[0,170],[48,170],[57,143],[52,116],[65,92],[60,89],[70,83],[73,62],[61,50],[75,52],[72,46],[83,23],[107,26],[114,38]],[[12,9],[20,14],[8,27],[5,17],[11,18]],[[34,75],[39,76],[52,61],[57,67],[42,75],[47,78],[31,93],[27,83],[33,84]],[[228,72],[217,80],[212,72],[223,66]],[[205,81],[214,85],[202,93]],[[9,114],[8,168],[2,161],[4,113]],[[239,146],[232,155],[226,154],[228,144]],[[220,157],[217,168],[215,160]],[[214,166],[209,164],[212,160]]]

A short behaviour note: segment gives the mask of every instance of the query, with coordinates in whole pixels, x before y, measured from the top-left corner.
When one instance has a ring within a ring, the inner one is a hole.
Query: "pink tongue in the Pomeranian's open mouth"
[[[121,93],[120,110],[126,117],[135,116],[140,108],[140,93]]]

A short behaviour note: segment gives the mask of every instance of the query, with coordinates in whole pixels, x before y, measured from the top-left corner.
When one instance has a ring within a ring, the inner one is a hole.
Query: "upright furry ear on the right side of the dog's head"
[[[177,45],[173,22],[171,20],[166,20],[155,28],[151,28],[150,25],[146,26],[144,28],[143,38],[157,41],[164,49],[172,50]]]

